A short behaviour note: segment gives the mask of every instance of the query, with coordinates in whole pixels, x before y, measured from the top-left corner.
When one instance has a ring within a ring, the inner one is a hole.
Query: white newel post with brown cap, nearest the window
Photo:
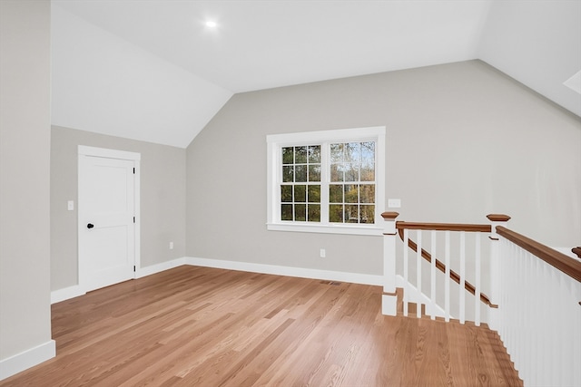
[[[381,296],[381,313],[396,315],[398,313],[398,295],[396,295],[396,218],[398,212],[384,212],[383,227],[383,295]]]

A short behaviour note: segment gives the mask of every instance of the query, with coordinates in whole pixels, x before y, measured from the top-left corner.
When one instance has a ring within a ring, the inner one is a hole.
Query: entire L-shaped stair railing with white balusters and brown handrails
[[[581,261],[566,256],[550,247],[542,245],[528,237],[524,237],[506,226],[509,217],[505,215],[489,215],[489,225],[456,225],[398,222],[397,212],[385,212],[384,225],[384,286],[382,295],[382,313],[398,314],[397,287],[404,288],[403,314],[407,315],[409,296],[415,293],[415,302],[425,302],[430,305],[429,314],[433,319],[436,307],[434,295],[434,274],[436,271],[445,275],[443,292],[444,317],[449,320],[449,284],[459,284],[458,298],[460,304],[463,295],[474,295],[475,303],[488,305],[489,327],[500,335],[507,348],[507,353],[519,372],[519,377],[526,385],[538,386],[581,386]],[[428,231],[426,231],[428,230]],[[410,233],[416,232],[416,235]],[[428,232],[429,243],[422,240],[423,233]],[[445,233],[444,262],[438,259],[434,246],[435,232]],[[458,232],[459,237],[459,273],[450,269],[449,234]],[[465,254],[466,234],[489,233],[489,297],[480,291],[481,252],[480,237],[476,237],[474,261],[475,285],[471,285],[467,277]],[[397,240],[401,235],[403,252],[398,259]],[[416,241],[411,240],[412,237]],[[429,245],[429,251],[423,245]],[[416,256],[415,285],[409,276],[409,251]],[[581,247],[571,250],[577,256]],[[421,261],[429,262],[430,293],[429,297],[422,295]],[[396,274],[400,264],[403,272],[401,278]],[[448,285],[446,285],[448,284]],[[423,299],[422,299],[423,296]],[[497,307],[496,307],[497,306]],[[479,324],[478,306],[475,306],[474,322]],[[417,308],[420,315],[421,307]],[[464,322],[465,311],[460,305],[458,317]]]

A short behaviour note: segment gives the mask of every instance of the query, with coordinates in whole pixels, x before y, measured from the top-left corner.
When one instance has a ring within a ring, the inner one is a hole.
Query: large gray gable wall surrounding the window
[[[380,237],[265,227],[267,134],[377,125],[399,220],[506,213],[549,246],[581,242],[580,119],[469,61],[234,95],[187,150],[187,255],[380,274]]]

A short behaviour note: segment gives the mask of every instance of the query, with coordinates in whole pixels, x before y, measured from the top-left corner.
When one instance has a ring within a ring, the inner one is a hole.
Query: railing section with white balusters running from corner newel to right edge
[[[490,328],[526,385],[581,386],[581,262],[506,227],[496,233]]]

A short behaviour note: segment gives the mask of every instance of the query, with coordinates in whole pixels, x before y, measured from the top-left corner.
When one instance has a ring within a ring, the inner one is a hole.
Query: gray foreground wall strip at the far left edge
[[[51,340],[50,2],[0,2],[0,361]]]

